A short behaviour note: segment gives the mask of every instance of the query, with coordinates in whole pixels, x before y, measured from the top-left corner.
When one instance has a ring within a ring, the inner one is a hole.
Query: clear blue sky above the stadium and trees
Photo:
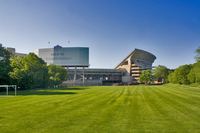
[[[24,53],[86,46],[95,68],[113,68],[139,48],[157,56],[154,65],[176,68],[194,63],[200,1],[0,0],[0,43]]]

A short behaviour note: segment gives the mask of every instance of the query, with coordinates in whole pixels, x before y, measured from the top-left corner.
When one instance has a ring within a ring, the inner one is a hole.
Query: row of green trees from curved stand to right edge
[[[140,82],[151,84],[158,81],[160,83],[175,84],[200,84],[200,47],[196,50],[196,63],[182,65],[175,70],[170,70],[165,66],[157,66],[153,70],[145,70],[140,76]]]

